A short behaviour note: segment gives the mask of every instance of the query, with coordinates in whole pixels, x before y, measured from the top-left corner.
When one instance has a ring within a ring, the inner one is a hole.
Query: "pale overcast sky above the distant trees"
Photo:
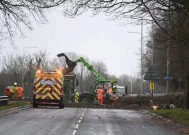
[[[112,75],[137,72],[140,56],[140,25],[120,26],[120,22],[109,21],[104,15],[92,17],[85,13],[77,18],[65,18],[60,12],[48,15],[49,22],[27,31],[27,38],[16,38],[16,52],[27,53],[46,49],[51,57],[60,52],[75,52],[91,60],[105,62]],[[147,30],[145,30],[147,31]],[[128,32],[138,32],[128,33]],[[145,32],[146,33],[146,32]],[[6,46],[9,48],[10,46]],[[7,48],[3,48],[3,54]],[[10,53],[13,49],[8,49]]]

